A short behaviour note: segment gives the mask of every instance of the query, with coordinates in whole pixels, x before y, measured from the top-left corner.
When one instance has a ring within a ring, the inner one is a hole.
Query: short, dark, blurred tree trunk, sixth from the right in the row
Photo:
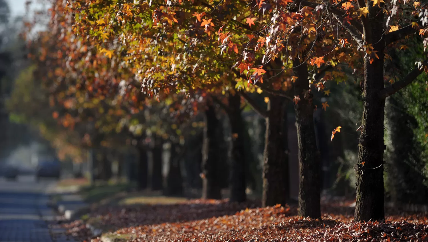
[[[181,196],[183,195],[183,178],[181,176],[181,151],[180,147],[171,143],[169,156],[169,169],[166,176],[165,195]]]

